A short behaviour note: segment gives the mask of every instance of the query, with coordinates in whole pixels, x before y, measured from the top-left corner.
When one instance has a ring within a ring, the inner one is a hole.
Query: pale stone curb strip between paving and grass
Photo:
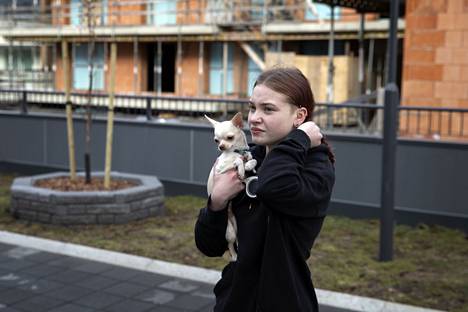
[[[18,245],[41,251],[57,253],[92,261],[114,264],[135,270],[169,275],[202,283],[215,284],[221,278],[221,272],[184,264],[107,251],[72,243],[64,243],[45,238],[0,231],[0,242]],[[441,312],[406,304],[393,303],[379,299],[316,289],[320,304],[358,312]]]

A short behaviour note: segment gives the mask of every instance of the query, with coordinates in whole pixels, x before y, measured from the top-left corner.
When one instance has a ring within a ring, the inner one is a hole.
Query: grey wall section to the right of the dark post
[[[443,144],[399,144],[397,205],[468,214],[467,156]]]

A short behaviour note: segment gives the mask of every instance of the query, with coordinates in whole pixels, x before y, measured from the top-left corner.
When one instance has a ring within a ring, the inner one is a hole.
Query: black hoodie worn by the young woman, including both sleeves
[[[293,130],[257,159],[257,198],[241,192],[232,200],[238,227],[238,260],[223,269],[216,284],[215,312],[318,311],[306,260],[318,236],[333,189],[328,147],[309,148]],[[209,206],[208,204],[207,207]],[[195,225],[198,249],[210,257],[227,250],[227,210],[200,210]]]

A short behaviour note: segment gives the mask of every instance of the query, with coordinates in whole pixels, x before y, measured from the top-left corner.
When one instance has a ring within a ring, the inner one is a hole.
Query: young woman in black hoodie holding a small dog
[[[222,256],[231,201],[238,258],[224,268],[214,288],[214,311],[318,311],[306,260],[330,201],[333,153],[311,121],[314,99],[298,69],[262,73],[249,105],[257,196],[246,195],[234,170],[215,175],[195,225],[198,249],[209,257]]]

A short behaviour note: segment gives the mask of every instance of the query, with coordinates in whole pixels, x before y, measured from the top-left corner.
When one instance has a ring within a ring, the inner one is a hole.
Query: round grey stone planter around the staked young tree
[[[63,176],[68,173],[16,178],[11,186],[11,214],[22,220],[72,225],[122,224],[164,213],[163,185],[156,177],[113,172],[112,179],[138,184],[115,191],[62,192],[34,186],[38,180]]]

